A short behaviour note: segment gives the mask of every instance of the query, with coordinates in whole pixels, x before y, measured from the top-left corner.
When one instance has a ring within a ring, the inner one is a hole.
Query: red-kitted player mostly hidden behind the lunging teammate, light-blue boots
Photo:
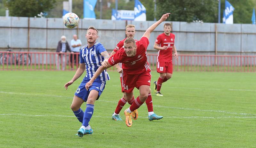
[[[135,35],[135,26],[134,25],[127,25],[125,27],[125,34],[127,37],[133,38]],[[110,56],[116,54],[116,52],[120,49],[123,50],[123,46],[124,46],[124,41],[126,40],[126,38],[122,41],[119,41],[118,44],[116,45],[116,48],[112,51],[112,53],[110,54]],[[135,40],[137,41],[137,40]],[[115,112],[112,114],[112,119],[116,120],[116,121],[122,121],[122,119],[119,116],[120,111],[122,110],[122,108],[124,107],[124,105],[127,102],[126,96],[125,96],[125,92],[124,92],[124,85],[123,85],[123,69],[122,69],[122,63],[116,64],[115,65],[117,71],[120,73],[120,81],[121,81],[121,89],[122,89],[122,93],[123,93],[123,97],[118,101],[118,104],[116,106]],[[128,100],[128,103],[130,105],[132,105],[134,101],[134,96],[132,97],[132,100]],[[148,93],[148,99],[145,101],[148,107],[148,120],[152,121],[152,120],[158,120],[163,118],[163,116],[158,116],[154,113],[153,111],[153,102],[152,102],[152,97],[151,97],[151,90],[149,90]],[[132,118],[134,120],[137,120],[138,118],[138,111],[137,109],[134,110],[132,112]]]

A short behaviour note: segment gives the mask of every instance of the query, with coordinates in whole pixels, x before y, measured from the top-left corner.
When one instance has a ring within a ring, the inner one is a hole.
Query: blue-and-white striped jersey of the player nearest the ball
[[[91,48],[87,48],[88,45],[85,45],[80,50],[80,63],[84,63],[86,66],[86,75],[84,79],[91,79],[95,71],[101,66],[101,63],[104,61],[104,57],[101,56],[101,53],[107,51],[102,44],[95,42]],[[108,72],[104,70],[95,81],[107,81],[110,77]]]

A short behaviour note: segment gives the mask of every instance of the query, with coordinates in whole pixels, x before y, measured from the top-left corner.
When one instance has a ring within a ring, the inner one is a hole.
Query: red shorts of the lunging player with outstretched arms
[[[135,75],[129,75],[123,72],[122,78],[123,78],[123,80],[121,80],[121,84],[123,84],[122,91],[124,90],[124,92],[126,93],[131,93],[134,87],[139,89],[141,85],[150,86],[151,72],[147,71],[147,72],[135,74]]]

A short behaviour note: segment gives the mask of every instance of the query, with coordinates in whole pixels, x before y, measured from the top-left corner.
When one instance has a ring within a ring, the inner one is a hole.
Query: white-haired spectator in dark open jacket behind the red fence
[[[56,69],[60,70],[60,64],[61,64],[61,69],[65,70],[65,67],[67,65],[67,55],[62,54],[67,52],[71,52],[70,47],[67,42],[66,36],[62,35],[61,40],[58,42],[58,46],[56,49],[56,52],[59,52],[60,54],[56,54]]]

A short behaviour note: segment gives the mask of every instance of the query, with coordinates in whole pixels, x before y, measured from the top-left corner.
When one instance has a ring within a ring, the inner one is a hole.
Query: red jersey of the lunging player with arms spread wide
[[[128,57],[124,51],[124,48],[122,47],[116,52],[116,54],[110,56],[108,63],[112,66],[116,65],[117,63],[123,63],[123,71],[131,75],[151,71],[147,62],[148,44],[148,38],[142,37],[140,41],[136,41],[137,50],[135,56]]]

